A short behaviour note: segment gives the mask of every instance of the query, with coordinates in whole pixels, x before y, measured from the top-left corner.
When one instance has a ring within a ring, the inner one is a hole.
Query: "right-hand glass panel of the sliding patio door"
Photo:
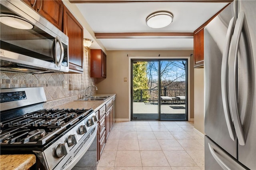
[[[187,61],[161,60],[160,120],[186,121]]]

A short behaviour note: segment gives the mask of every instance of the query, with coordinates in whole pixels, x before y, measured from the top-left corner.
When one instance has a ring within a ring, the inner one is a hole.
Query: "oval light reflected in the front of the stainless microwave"
[[[28,21],[24,20],[23,18],[15,15],[9,15],[9,14],[1,14],[0,15],[0,22],[3,24],[18,28],[21,30],[30,30],[33,28],[33,25],[30,24]]]

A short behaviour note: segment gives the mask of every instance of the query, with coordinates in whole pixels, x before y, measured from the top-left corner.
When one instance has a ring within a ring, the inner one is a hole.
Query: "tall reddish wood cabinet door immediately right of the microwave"
[[[71,73],[83,73],[83,27],[64,7],[63,31],[68,36],[68,57]]]

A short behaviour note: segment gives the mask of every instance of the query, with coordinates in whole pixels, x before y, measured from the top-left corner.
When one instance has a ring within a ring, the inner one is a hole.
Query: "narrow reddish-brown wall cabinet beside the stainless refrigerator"
[[[194,67],[204,67],[204,29],[194,33]]]

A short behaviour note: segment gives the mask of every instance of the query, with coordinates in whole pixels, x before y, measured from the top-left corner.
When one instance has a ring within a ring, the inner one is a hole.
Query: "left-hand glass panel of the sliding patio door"
[[[132,61],[132,120],[158,120],[158,61]]]

